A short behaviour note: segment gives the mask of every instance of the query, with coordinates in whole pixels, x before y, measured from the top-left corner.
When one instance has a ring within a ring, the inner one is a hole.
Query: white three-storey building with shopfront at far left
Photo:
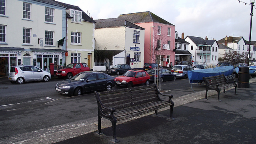
[[[0,6],[0,75],[10,66],[34,65],[49,70],[62,64],[66,8],[54,0],[2,0]]]

